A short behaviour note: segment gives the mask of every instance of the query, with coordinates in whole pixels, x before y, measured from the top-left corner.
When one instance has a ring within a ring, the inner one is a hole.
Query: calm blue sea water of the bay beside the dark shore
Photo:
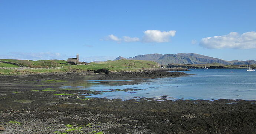
[[[161,99],[243,99],[256,100],[256,71],[246,69],[191,69],[195,74],[177,78],[139,80],[90,80],[61,88],[101,91],[88,97]]]

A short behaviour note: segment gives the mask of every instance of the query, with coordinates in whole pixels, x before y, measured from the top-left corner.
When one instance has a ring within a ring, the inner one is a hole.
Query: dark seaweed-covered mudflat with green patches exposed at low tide
[[[0,77],[0,126],[20,133],[255,133],[256,101],[86,98],[75,80],[178,77],[179,72],[37,74]],[[0,127],[1,129],[1,127]]]

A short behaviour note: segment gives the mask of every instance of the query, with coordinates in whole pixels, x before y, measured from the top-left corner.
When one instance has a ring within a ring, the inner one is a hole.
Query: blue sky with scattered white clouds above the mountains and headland
[[[256,60],[255,0],[0,0],[0,59]]]

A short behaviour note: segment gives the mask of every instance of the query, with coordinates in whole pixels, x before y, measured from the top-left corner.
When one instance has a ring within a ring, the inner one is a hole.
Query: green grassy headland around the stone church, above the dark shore
[[[7,60],[5,60],[7,61]],[[20,62],[20,60],[8,60],[10,62]],[[32,63],[40,63],[42,61],[29,61]],[[55,60],[55,63],[63,63],[61,60]],[[159,65],[154,61],[145,61],[145,60],[116,60],[116,61],[105,61],[101,63],[91,63],[88,65],[66,65],[59,64],[58,66],[62,67],[61,69],[0,69],[0,74],[32,74],[32,73],[61,73],[68,71],[95,71],[95,70],[109,70],[109,71],[136,71],[141,68],[158,68]],[[71,67],[71,68],[70,68]]]

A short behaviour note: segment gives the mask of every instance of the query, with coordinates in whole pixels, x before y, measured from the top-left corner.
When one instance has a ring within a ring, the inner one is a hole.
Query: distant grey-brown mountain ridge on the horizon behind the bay
[[[124,57],[117,57],[115,60],[126,59]],[[127,58],[128,60],[149,60],[155,61],[161,65],[167,64],[209,64],[209,63],[220,63],[225,65],[239,65],[247,64],[248,61],[226,61],[219,58],[213,58],[195,53],[177,53],[177,54],[145,54]],[[250,64],[256,64],[256,61],[250,61]]]

